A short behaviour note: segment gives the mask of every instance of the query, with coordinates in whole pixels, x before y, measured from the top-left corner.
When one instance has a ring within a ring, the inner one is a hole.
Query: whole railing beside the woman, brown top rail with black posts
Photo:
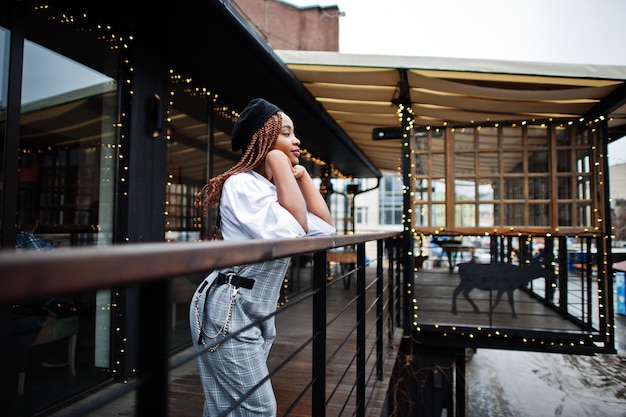
[[[0,253],[0,306],[9,306],[20,301],[52,296],[55,294],[78,293],[111,287],[139,286],[139,327],[137,335],[137,373],[136,378],[126,384],[120,384],[97,401],[74,411],[74,415],[85,415],[100,406],[136,390],[137,416],[167,415],[167,382],[169,372],[183,363],[195,358],[197,353],[167,360],[167,338],[154,338],[166,323],[169,323],[169,310],[164,308],[169,302],[169,277],[203,272],[216,268],[248,264],[270,259],[313,254],[313,288],[306,297],[313,299],[313,337],[307,343],[311,345],[313,376],[307,390],[311,390],[311,415],[326,415],[326,357],[335,347],[326,341],[325,297],[327,282],[327,250],[351,245],[356,247],[356,309],[357,346],[365,346],[366,321],[368,310],[377,311],[373,329],[376,333],[375,351],[371,356],[375,360],[367,361],[365,349],[355,349],[356,364],[356,409],[354,415],[364,416],[368,404],[365,392],[368,384],[366,375],[381,378],[383,341],[389,334],[383,334],[386,322],[394,327],[394,317],[399,317],[402,301],[399,300],[399,274],[394,274],[393,250],[399,240],[398,233],[374,233],[334,237],[312,237],[281,240],[255,240],[242,242],[211,241],[196,243],[151,243],[129,244],[112,247],[83,247],[59,249],[54,252],[38,253]],[[376,299],[367,308],[365,304],[365,243],[377,242],[376,277],[369,285],[376,286]],[[386,245],[385,245],[386,243]],[[387,252],[385,252],[387,251]],[[387,255],[386,255],[387,253]],[[175,260],[175,261],[173,261]],[[386,262],[386,267],[385,267]],[[399,263],[398,263],[399,265]],[[383,294],[387,294],[385,300]],[[143,296],[142,296],[143,295]],[[304,297],[301,297],[304,299]],[[279,314],[278,309],[275,314]],[[394,313],[395,311],[395,313]],[[386,312],[386,314],[385,314]],[[142,317],[142,315],[146,315]],[[272,316],[270,315],[270,316]],[[269,318],[266,317],[265,319]],[[395,325],[399,325],[399,323]],[[387,326],[388,327],[388,326]],[[242,329],[245,330],[245,329]],[[389,329],[388,329],[389,330]],[[234,337],[237,332],[227,335]],[[223,342],[223,341],[222,341]],[[208,347],[210,348],[210,346]],[[300,349],[305,348],[301,346]],[[373,363],[372,370],[365,369],[366,363]],[[350,366],[350,365],[349,365]],[[6,370],[3,370],[3,372]],[[332,395],[331,395],[332,397]],[[286,414],[288,415],[288,413]]]

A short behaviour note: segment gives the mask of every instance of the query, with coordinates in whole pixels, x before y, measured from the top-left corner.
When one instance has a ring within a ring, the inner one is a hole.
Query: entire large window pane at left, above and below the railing
[[[107,55],[98,60],[103,68],[87,67],[55,52],[66,45],[58,45],[53,30],[30,25],[26,36],[46,43],[24,45],[15,219],[20,250],[113,242],[118,97],[116,79],[104,68],[115,67],[111,63],[118,58],[89,34],[81,40],[99,47],[82,53]],[[80,55],[82,49],[74,49]],[[13,358],[27,372],[23,398],[28,399],[15,415],[31,415],[111,378],[113,298],[100,290],[14,306],[14,329],[31,335],[18,338],[28,361],[19,352]],[[59,366],[58,371],[42,363]]]

